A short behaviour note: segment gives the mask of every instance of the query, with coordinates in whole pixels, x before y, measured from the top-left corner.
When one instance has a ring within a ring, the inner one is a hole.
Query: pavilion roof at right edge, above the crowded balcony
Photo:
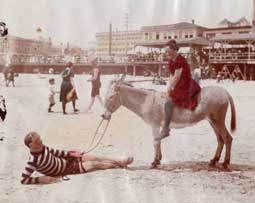
[[[248,40],[255,41],[255,33],[218,35],[211,39],[212,42],[227,42],[229,44],[247,44]]]

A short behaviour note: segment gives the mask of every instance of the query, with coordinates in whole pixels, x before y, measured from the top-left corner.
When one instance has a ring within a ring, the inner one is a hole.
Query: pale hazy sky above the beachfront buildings
[[[130,29],[146,25],[191,22],[217,27],[227,18],[237,21],[245,17],[251,22],[253,0],[0,0],[0,21],[10,35],[37,38],[36,28],[53,43],[87,47],[96,32],[125,29],[125,13],[129,13]]]

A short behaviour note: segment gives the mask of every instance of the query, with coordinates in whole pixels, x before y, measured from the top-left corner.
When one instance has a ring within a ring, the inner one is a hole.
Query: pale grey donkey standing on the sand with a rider
[[[160,127],[163,125],[165,95],[162,92],[134,88],[124,82],[125,75],[118,81],[111,81],[105,97],[105,113],[102,117],[111,118],[121,105],[137,114],[151,126],[154,138],[154,160],[151,168],[160,165],[162,159]],[[219,161],[224,144],[226,145],[223,169],[229,170],[232,136],[225,126],[228,105],[231,107],[231,132],[236,129],[236,111],[231,95],[221,87],[202,88],[198,96],[198,105],[194,111],[177,106],[173,109],[171,128],[184,128],[208,120],[212,126],[218,146],[209,165],[215,166]]]

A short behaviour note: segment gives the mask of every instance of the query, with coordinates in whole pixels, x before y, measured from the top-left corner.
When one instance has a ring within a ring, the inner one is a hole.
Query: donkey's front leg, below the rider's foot
[[[152,126],[152,133],[153,133],[153,139],[154,139],[154,160],[151,163],[151,168],[156,168],[158,165],[160,165],[160,161],[162,159],[162,153],[161,153],[161,141],[158,140],[159,136],[159,126]]]

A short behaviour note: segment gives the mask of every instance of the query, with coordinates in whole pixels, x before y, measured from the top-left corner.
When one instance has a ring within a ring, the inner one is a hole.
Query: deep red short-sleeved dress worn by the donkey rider
[[[180,80],[170,92],[170,97],[175,105],[194,110],[197,106],[197,96],[201,91],[200,86],[191,78],[190,67],[187,60],[178,55],[174,61],[168,62],[169,72],[174,75],[175,70],[182,68]]]

